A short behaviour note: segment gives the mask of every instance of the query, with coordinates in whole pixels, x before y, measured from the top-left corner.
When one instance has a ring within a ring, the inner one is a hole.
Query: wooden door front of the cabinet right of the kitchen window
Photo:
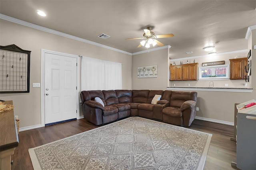
[[[243,59],[230,60],[230,80],[244,79],[243,67],[244,67]]]

